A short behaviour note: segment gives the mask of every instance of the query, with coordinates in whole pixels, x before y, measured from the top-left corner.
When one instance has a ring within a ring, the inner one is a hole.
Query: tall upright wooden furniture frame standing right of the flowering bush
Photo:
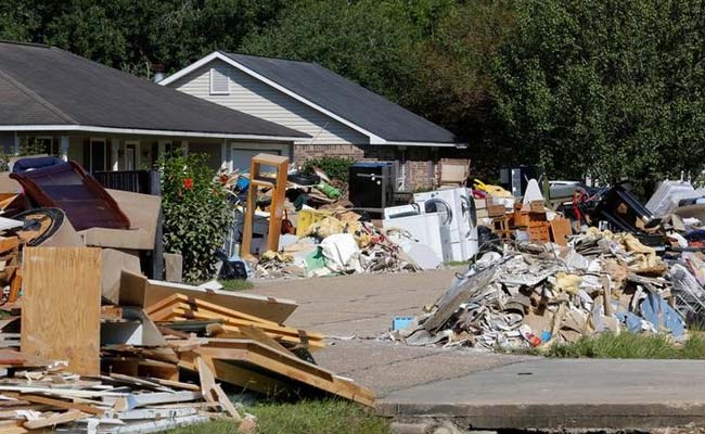
[[[274,177],[262,176],[262,166],[273,167]],[[286,171],[289,157],[272,154],[257,154],[249,162],[249,188],[247,189],[247,209],[242,234],[240,256],[252,257],[252,232],[257,208],[257,191],[259,188],[271,189],[272,202],[269,209],[269,234],[267,250],[279,251],[279,235],[282,230],[282,216],[284,213],[284,194],[286,192]]]

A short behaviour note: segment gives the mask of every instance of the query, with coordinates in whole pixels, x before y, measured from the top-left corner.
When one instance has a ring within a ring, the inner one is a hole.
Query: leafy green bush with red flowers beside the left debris
[[[164,250],[183,256],[183,278],[204,281],[215,272],[215,253],[228,233],[230,205],[213,181],[207,155],[190,154],[159,161]]]

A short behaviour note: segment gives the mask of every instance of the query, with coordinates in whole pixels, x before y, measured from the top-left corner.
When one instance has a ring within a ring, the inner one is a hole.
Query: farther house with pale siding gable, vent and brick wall
[[[398,162],[398,189],[430,188],[440,157],[465,148],[452,132],[387,99],[309,62],[216,51],[159,85],[307,133],[292,150],[271,152],[307,158],[352,156]],[[246,149],[233,150],[244,167]]]

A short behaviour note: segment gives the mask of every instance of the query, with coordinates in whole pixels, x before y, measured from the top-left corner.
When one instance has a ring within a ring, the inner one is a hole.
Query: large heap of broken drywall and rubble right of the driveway
[[[517,349],[611,331],[685,335],[705,312],[705,255],[662,258],[630,233],[590,228],[567,246],[507,243],[485,253],[392,337],[410,345]]]

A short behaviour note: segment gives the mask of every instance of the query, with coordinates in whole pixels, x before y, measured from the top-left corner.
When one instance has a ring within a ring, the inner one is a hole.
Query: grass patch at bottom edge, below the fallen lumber
[[[246,407],[257,417],[257,434],[390,434],[389,422],[371,409],[337,400],[302,400],[295,404],[267,403]],[[168,434],[232,434],[228,420],[183,426]]]

